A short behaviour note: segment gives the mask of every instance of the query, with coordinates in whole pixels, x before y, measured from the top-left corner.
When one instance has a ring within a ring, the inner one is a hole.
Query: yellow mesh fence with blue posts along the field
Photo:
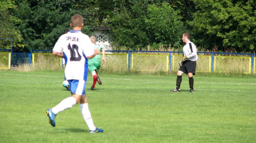
[[[238,72],[255,73],[256,54],[198,52],[196,71],[198,72]],[[177,71],[182,52],[163,51],[106,51],[105,70],[138,70],[138,71]],[[0,51],[0,69],[10,69],[20,64],[47,64],[56,62],[63,66],[62,59],[54,56],[52,50],[31,50],[31,53],[12,53]]]

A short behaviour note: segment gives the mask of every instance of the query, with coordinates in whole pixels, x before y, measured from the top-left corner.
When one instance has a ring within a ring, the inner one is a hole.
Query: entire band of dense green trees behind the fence
[[[89,36],[97,26],[113,27],[113,43],[127,50],[148,45],[155,50],[159,45],[181,49],[184,32],[207,50],[256,48],[255,0],[3,0],[0,4],[0,38],[12,37],[14,52],[52,49],[70,28],[74,14],[84,17],[82,32]]]

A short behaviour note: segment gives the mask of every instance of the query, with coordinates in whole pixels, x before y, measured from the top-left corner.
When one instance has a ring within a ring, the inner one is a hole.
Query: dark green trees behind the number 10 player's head
[[[96,12],[98,6],[95,1],[65,1],[38,0],[18,1],[18,6],[12,10],[22,22],[16,25],[24,37],[25,50],[52,50],[59,36],[70,29],[70,18],[74,14],[84,17],[83,33],[92,35],[98,25]]]

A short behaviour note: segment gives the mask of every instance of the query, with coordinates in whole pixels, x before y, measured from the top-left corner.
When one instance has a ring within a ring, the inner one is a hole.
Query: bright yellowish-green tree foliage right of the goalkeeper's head
[[[187,21],[196,43],[207,49],[253,52],[256,44],[255,1],[193,0],[197,11]]]

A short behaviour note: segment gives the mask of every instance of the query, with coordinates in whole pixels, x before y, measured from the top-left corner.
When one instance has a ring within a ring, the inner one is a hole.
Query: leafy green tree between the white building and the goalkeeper
[[[160,1],[116,1],[111,26],[114,43],[132,50],[159,44],[181,45],[185,30],[180,11]]]

